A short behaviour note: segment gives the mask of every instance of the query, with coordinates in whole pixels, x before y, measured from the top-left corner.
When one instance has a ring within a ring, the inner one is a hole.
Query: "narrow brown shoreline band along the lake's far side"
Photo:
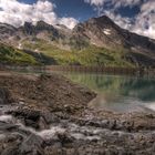
[[[89,72],[107,73],[120,75],[155,76],[154,68],[118,68],[118,66],[82,66],[82,65],[0,65],[0,70],[7,71],[64,71],[64,72]]]

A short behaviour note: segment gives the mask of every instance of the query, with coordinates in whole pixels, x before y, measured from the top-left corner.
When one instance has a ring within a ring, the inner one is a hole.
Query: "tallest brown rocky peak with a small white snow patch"
[[[126,49],[135,48],[152,52],[155,50],[154,40],[121,29],[105,16],[80,23],[73,31],[82,38],[86,37],[91,44],[95,44],[96,46],[111,49],[116,46]]]

